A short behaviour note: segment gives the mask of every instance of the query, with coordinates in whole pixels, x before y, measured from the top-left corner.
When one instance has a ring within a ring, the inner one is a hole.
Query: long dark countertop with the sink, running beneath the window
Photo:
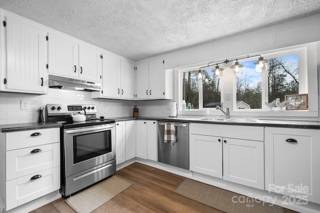
[[[283,128],[299,128],[299,129],[320,129],[320,122],[318,121],[306,121],[306,120],[267,120],[267,119],[256,119],[257,121],[251,121],[254,119],[242,119],[239,118],[238,121],[231,120],[200,120],[200,118],[193,117],[117,117],[110,118],[115,121],[125,121],[125,120],[156,120],[162,122],[190,122],[190,123],[203,123],[203,124],[222,124],[222,125],[239,125],[239,126],[261,126],[261,127],[283,127]],[[234,118],[231,118],[234,119]]]

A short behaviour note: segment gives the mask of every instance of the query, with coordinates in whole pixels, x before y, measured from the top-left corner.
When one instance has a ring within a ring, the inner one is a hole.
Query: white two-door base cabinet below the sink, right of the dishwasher
[[[191,123],[189,134],[191,171],[264,189],[263,127]]]

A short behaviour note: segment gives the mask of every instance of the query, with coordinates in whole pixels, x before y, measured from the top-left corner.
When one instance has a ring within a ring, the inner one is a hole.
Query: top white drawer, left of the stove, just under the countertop
[[[51,144],[60,141],[60,129],[36,129],[5,133],[5,151]]]

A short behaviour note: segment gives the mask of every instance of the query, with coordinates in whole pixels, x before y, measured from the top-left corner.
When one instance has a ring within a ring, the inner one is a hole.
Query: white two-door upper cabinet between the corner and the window
[[[173,70],[164,71],[164,60],[137,64],[136,99],[173,99]]]

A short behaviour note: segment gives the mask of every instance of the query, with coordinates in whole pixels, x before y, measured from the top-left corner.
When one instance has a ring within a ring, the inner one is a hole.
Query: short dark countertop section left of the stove
[[[0,132],[16,132],[32,129],[46,129],[61,127],[62,124],[43,122],[43,123],[18,123],[18,124],[2,124]]]

